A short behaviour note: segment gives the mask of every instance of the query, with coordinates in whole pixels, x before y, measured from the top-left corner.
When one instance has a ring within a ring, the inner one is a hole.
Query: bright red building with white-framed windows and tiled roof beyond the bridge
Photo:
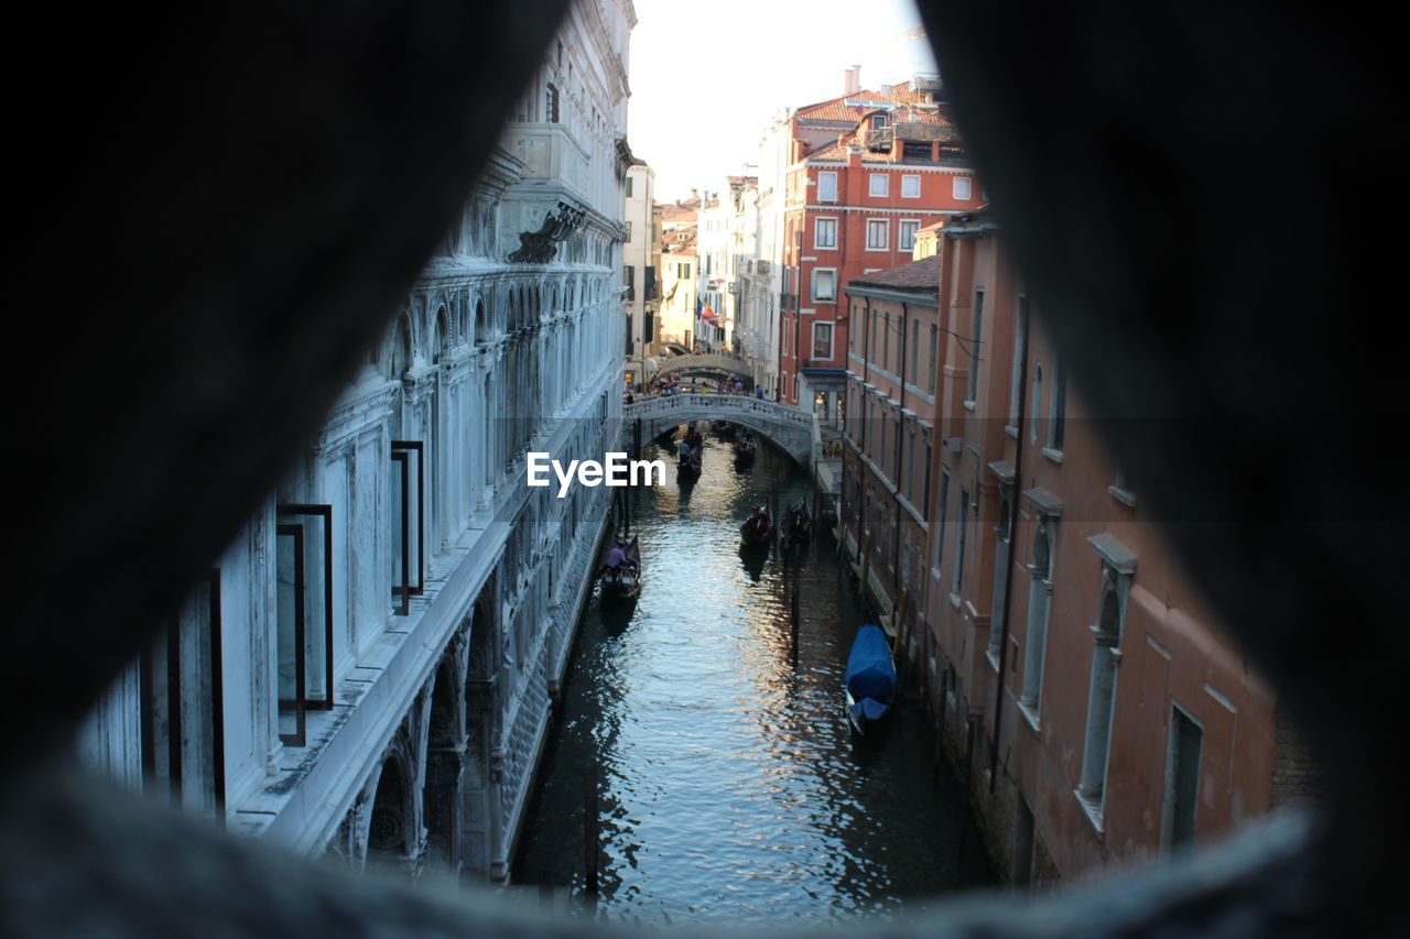
[[[835,420],[846,386],[842,285],[911,258],[916,233],[983,204],[938,79],[798,109],[790,131],[780,398]]]

